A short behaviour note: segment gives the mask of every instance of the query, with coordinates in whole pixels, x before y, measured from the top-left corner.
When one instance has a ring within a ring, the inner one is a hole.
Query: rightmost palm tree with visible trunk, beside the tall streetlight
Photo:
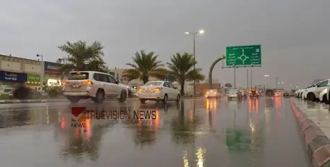
[[[172,56],[171,62],[167,63],[170,68],[170,76],[173,81],[179,81],[181,85],[181,95],[184,93],[185,81],[203,81],[205,76],[201,74],[201,69],[196,68],[195,71],[193,69],[194,65],[197,64],[197,61],[194,60],[192,54],[184,53],[176,53]]]

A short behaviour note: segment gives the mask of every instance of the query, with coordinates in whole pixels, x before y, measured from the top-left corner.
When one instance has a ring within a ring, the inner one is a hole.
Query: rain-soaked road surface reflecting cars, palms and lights
[[[68,103],[0,105],[1,166],[309,166],[282,97],[79,106],[155,109],[157,118],[154,125],[87,119],[79,128]]]

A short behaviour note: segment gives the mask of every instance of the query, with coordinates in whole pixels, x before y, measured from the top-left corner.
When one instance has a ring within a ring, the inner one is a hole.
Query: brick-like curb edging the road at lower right
[[[330,140],[324,132],[290,100],[293,115],[297,120],[299,136],[314,167],[330,166]]]

